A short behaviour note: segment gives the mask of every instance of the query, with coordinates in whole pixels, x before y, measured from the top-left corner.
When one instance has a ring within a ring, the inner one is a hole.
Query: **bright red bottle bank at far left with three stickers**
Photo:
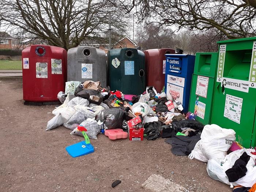
[[[26,102],[59,101],[65,90],[67,51],[50,45],[32,45],[22,50],[23,100]]]

